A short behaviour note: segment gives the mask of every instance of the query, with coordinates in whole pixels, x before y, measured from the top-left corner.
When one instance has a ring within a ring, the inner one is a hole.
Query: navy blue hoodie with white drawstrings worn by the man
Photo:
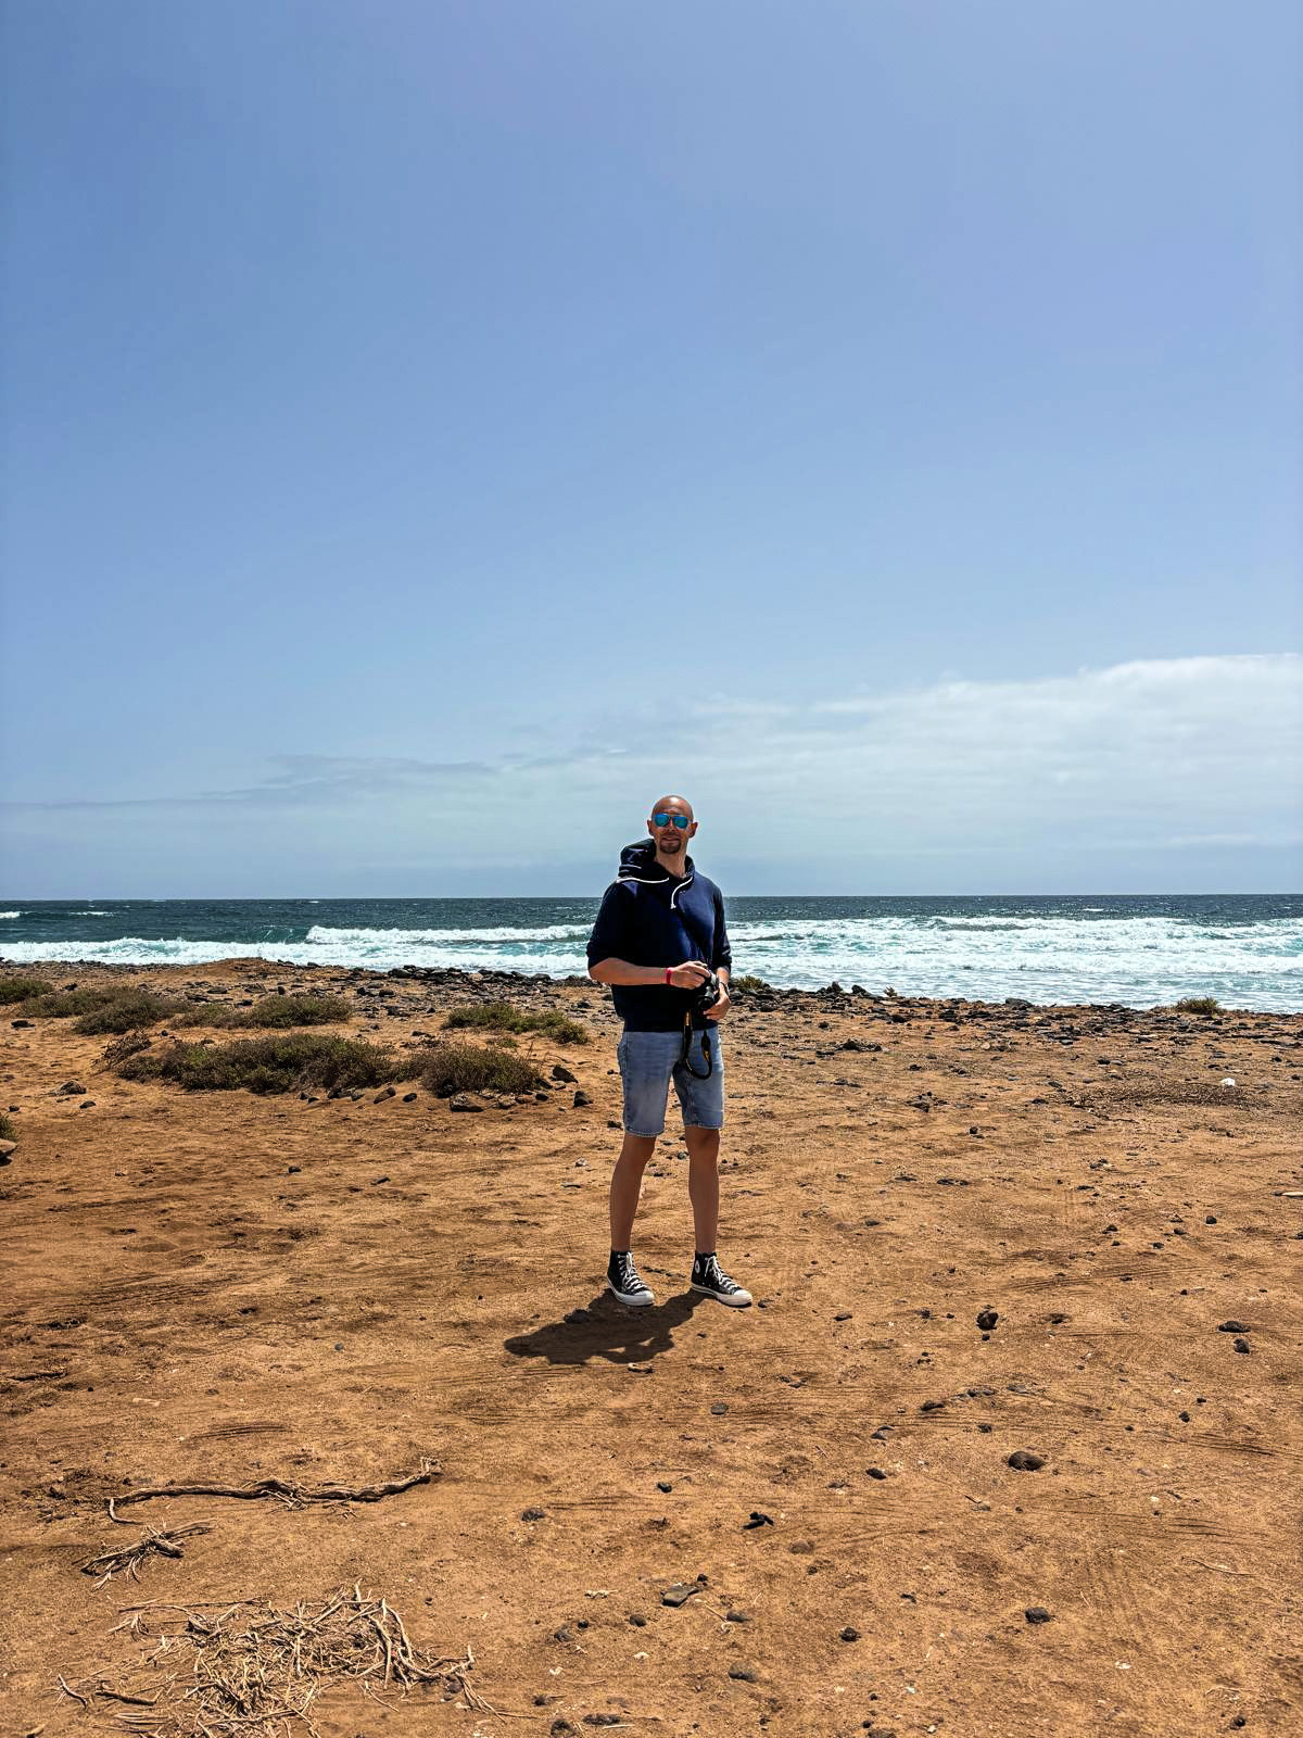
[[[589,937],[589,966],[627,959],[634,966],[681,966],[704,959],[731,972],[724,895],[697,874],[691,857],[676,876],[657,862],[655,839],[620,852],[620,869],[601,900]],[[631,1032],[679,1032],[691,991],[672,984],[612,984],[615,1012]]]

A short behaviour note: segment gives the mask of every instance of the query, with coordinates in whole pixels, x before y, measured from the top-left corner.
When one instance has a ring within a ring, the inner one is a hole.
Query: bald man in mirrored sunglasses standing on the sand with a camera
[[[624,1145],[612,1177],[612,1258],[606,1284],[620,1304],[653,1304],[652,1288],[631,1253],[634,1213],[646,1161],[665,1128],[669,1083],[683,1107],[688,1145],[688,1197],[697,1253],[691,1290],[733,1309],[751,1293],[721,1269],[719,1130],[724,1126],[724,1057],[719,1022],[728,1013],[731,951],[724,900],[697,874],[688,841],[697,833],[691,803],[662,796],[646,822],[648,838],[625,845],[620,871],[606,888],[589,939],[589,977],[610,984],[624,1020],[617,1048],[624,1085]],[[719,999],[698,1006],[711,973]]]

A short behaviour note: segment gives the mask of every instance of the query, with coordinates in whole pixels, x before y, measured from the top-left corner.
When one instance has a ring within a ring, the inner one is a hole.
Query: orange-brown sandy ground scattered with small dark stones
[[[130,980],[342,987],[394,1046],[502,994],[262,961]],[[127,1606],[172,1602],[156,1639],[177,1608],[354,1583],[413,1644],[469,1648],[497,1714],[341,1682],[323,1738],[1303,1731],[1303,1017],[738,1006],[719,1248],[757,1307],[688,1291],[671,1137],[634,1237],[658,1304],[631,1312],[603,1295],[613,1017],[592,985],[514,998],[589,1024],[533,1050],[591,1105],[186,1095],[5,1010],[5,1731],[148,1714],[57,1686],[149,1681]],[[379,1502],[106,1512],[422,1458]],[[82,1571],[193,1522],[139,1582]]]

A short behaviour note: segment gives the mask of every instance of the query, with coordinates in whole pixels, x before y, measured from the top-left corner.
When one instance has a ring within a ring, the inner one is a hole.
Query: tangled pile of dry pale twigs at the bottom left
[[[163,1627],[163,1613],[175,1615],[175,1630]],[[493,1712],[466,1682],[474,1667],[469,1648],[464,1658],[434,1658],[429,1649],[413,1648],[393,1606],[363,1595],[360,1583],[351,1592],[337,1590],[320,1609],[299,1601],[278,1611],[255,1599],[231,1601],[215,1616],[162,1601],[127,1606],[113,1634],[149,1635],[151,1623],[160,1625],[155,1646],[129,1668],[122,1688],[106,1679],[80,1684],[59,1679],[59,1688],[85,1707],[106,1700],[139,1708],[118,1714],[116,1724],[146,1738],[273,1738],[290,1721],[302,1721],[316,1735],[313,1703],[344,1679],[386,1707],[391,1703],[380,1689],[407,1695],[429,1686],[441,1689],[445,1700],[459,1696],[476,1712]],[[162,1679],[160,1660],[174,1667]],[[184,1665],[189,1684],[182,1688]],[[151,1672],[151,1682],[137,1682]]]

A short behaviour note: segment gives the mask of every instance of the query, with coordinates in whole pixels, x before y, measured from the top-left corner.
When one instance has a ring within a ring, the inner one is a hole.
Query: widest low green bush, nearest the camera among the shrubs
[[[186,1091],[306,1091],[309,1086],[384,1086],[408,1065],[379,1045],[323,1032],[241,1038],[233,1045],[184,1045],[127,1057],[118,1074],[129,1081],[165,1079]]]

